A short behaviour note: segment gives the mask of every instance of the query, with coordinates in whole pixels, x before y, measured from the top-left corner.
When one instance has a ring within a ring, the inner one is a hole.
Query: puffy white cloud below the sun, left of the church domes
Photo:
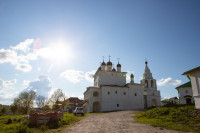
[[[60,77],[65,78],[72,83],[78,83],[84,78],[84,73],[82,71],[71,69],[61,73]]]

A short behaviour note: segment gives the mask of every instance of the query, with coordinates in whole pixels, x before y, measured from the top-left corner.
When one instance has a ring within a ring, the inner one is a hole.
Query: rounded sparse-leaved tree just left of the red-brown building
[[[57,89],[51,95],[49,99],[49,103],[53,109],[64,109],[64,107],[68,104],[65,94],[62,92],[61,89]]]

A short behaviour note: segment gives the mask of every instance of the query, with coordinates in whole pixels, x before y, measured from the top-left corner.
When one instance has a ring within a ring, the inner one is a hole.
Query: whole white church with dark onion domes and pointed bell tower
[[[134,82],[133,74],[130,83],[126,83],[126,74],[121,71],[119,62],[116,70],[110,59],[107,63],[103,60],[94,74],[94,86],[87,87],[84,92],[86,112],[143,110],[161,106],[160,91],[157,90],[147,61],[140,83]]]

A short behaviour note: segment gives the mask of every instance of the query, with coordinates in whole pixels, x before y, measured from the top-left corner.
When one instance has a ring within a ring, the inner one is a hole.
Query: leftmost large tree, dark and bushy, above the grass
[[[16,108],[20,114],[28,114],[30,109],[34,107],[35,91],[21,92],[18,98],[14,99],[12,108]]]

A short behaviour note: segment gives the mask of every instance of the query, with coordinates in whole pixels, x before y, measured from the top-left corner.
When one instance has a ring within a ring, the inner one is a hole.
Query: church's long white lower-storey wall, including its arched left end
[[[93,93],[99,92],[98,97]],[[136,94],[136,96],[135,96]],[[89,95],[89,96],[88,96]],[[100,103],[100,111],[116,110],[142,110],[144,98],[142,85],[129,84],[128,87],[102,86],[90,87],[85,93],[85,99],[89,99],[87,112],[93,112],[93,103]]]

